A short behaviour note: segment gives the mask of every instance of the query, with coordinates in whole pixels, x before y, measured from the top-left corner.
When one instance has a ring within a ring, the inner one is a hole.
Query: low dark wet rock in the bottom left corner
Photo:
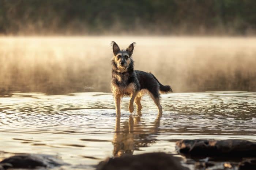
[[[8,169],[10,167],[34,169],[36,167],[50,168],[54,166],[62,166],[68,164],[50,155],[20,154],[12,156],[10,158],[5,158],[3,161],[0,162],[0,165],[4,169]]]

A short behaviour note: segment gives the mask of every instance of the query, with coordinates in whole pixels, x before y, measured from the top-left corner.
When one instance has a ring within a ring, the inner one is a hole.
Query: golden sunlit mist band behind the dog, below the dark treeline
[[[174,92],[256,91],[256,38],[74,36],[0,37],[0,94],[110,91],[114,40],[136,42],[135,69]]]

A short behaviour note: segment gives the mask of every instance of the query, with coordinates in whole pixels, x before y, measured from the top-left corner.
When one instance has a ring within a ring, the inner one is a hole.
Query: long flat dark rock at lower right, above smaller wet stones
[[[245,140],[181,140],[176,142],[178,153],[186,157],[256,157],[256,142]]]

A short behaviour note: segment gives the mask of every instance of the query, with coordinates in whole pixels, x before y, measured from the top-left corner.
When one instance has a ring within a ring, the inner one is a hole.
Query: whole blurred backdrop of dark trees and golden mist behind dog
[[[110,91],[114,40],[174,92],[256,91],[255,0],[0,0],[0,95]]]

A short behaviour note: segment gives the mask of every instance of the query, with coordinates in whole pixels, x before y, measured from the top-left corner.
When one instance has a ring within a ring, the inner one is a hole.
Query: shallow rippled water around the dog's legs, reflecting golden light
[[[124,153],[176,153],[180,139],[256,141],[256,92],[162,95],[163,114],[145,96],[142,115],[124,98],[116,117],[110,93],[14,93],[0,98],[0,160],[11,153],[57,155],[71,168],[93,169]]]

